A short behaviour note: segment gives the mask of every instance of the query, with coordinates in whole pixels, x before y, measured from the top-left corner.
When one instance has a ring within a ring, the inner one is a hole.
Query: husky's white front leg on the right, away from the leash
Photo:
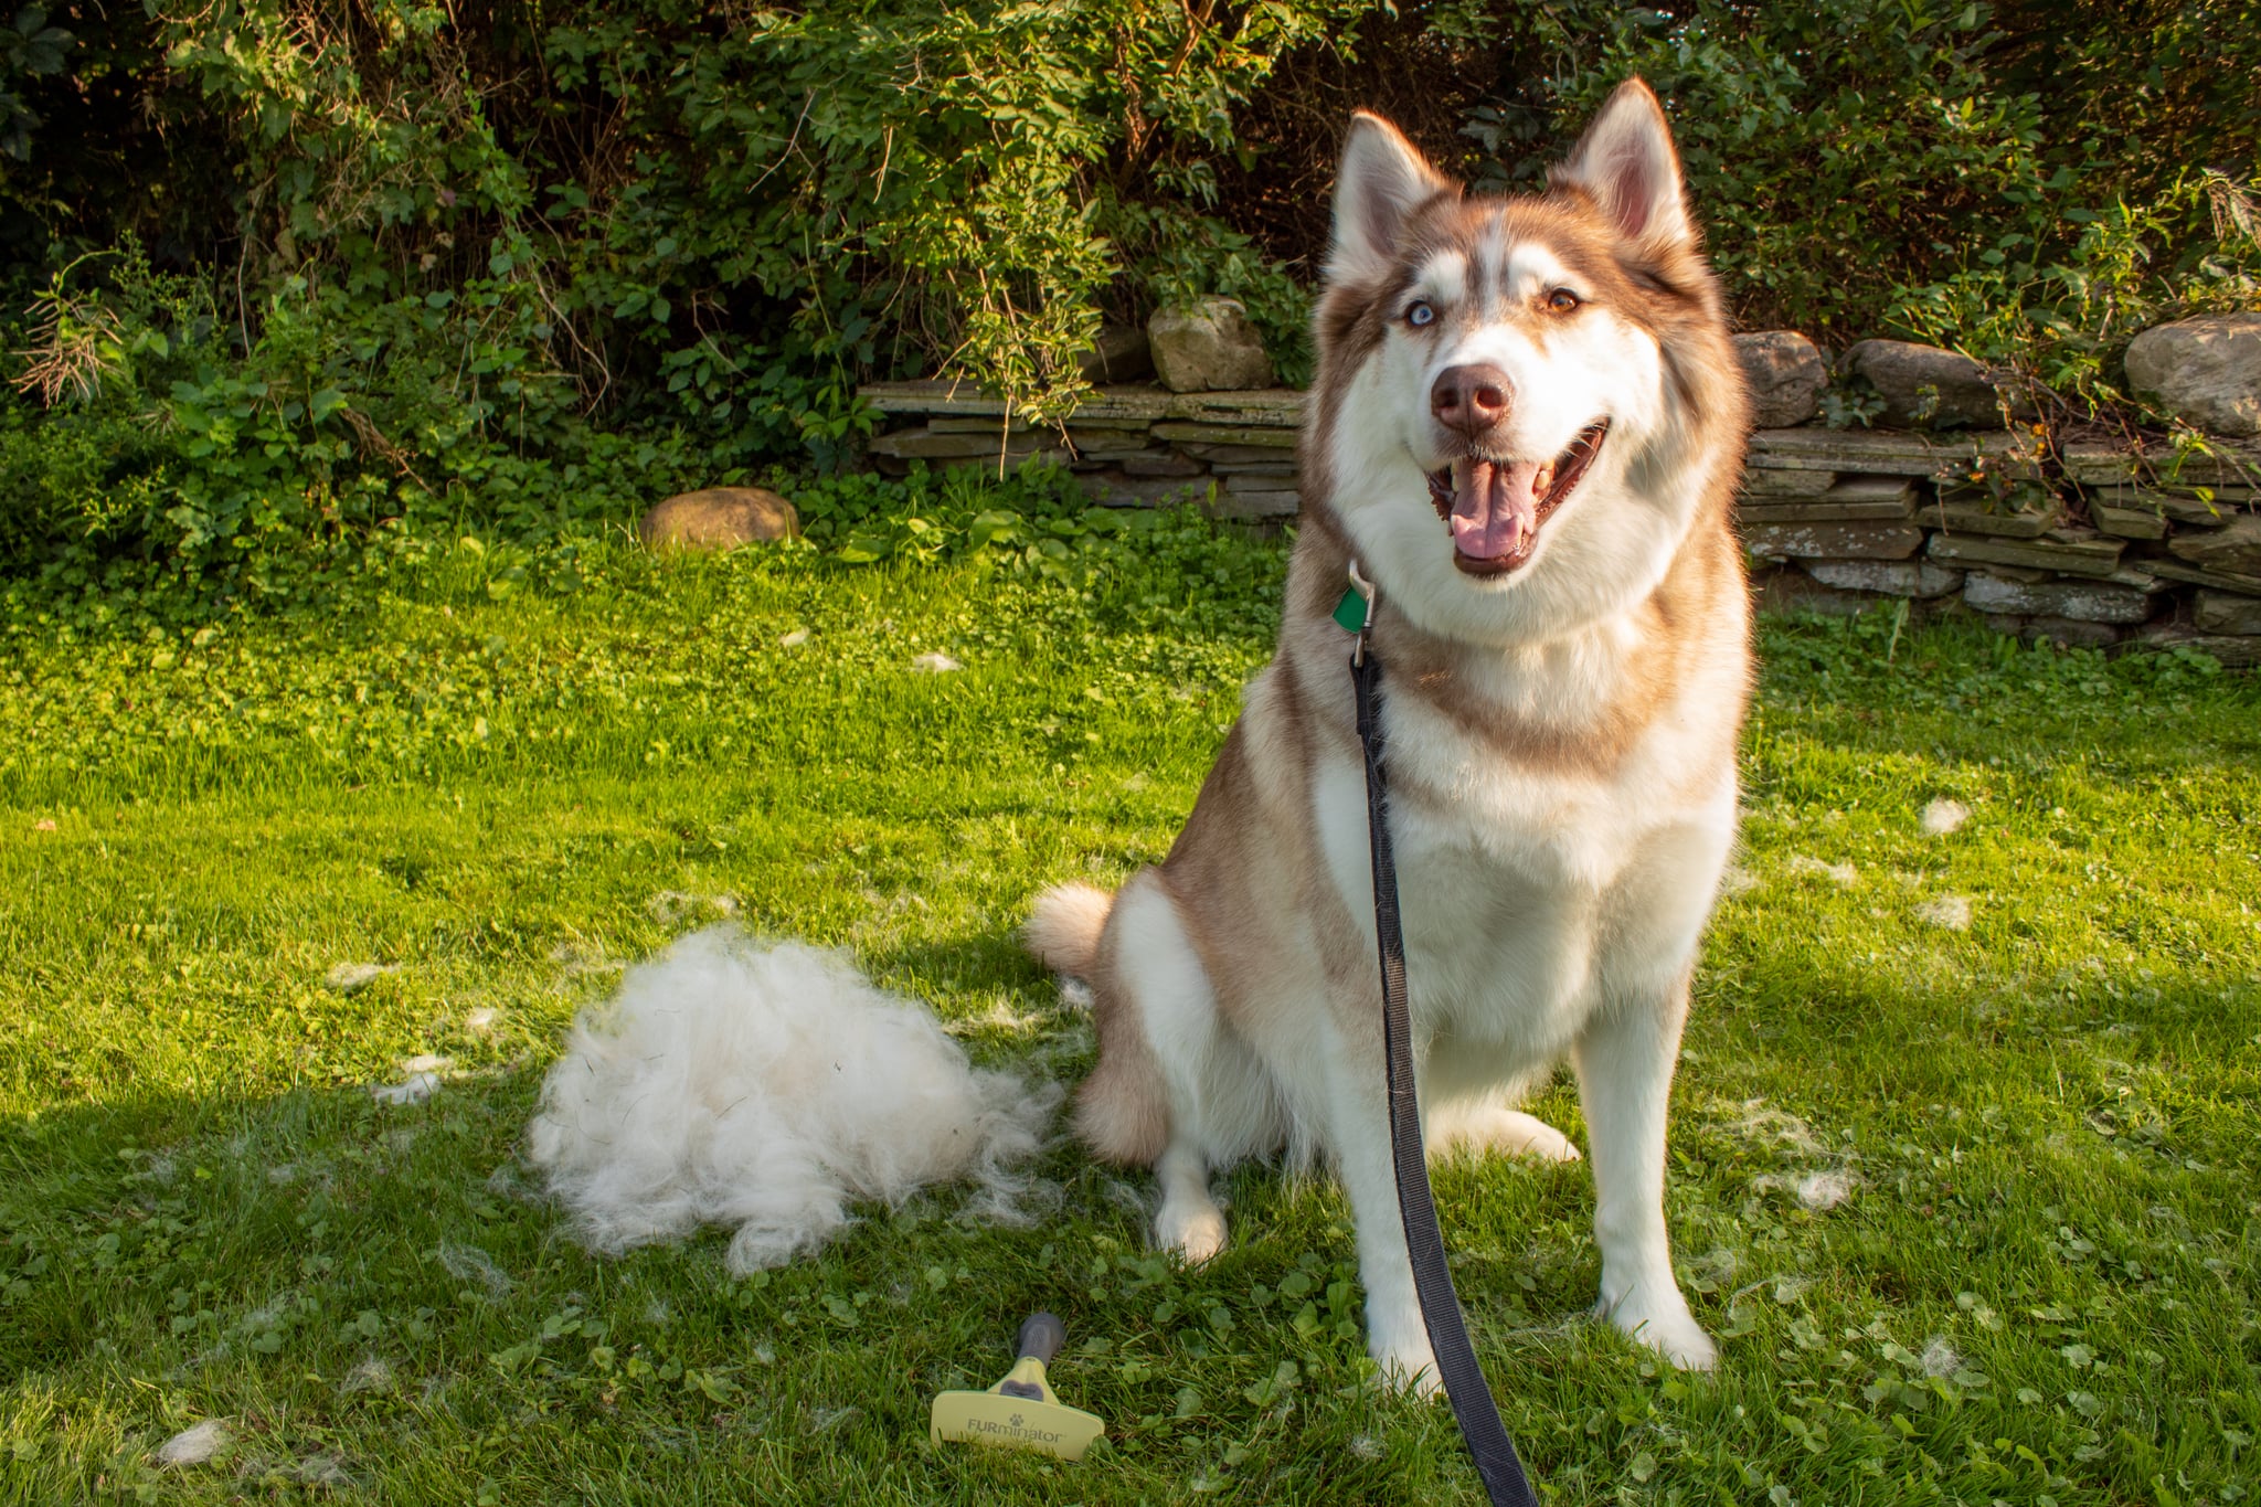
[[[1578,1098],[1594,1148],[1599,1310],[1673,1365],[1707,1371],[1718,1349],[1680,1295],[1664,1234],[1664,1109],[1684,1019],[1687,983],[1599,1012],[1578,1037]]]

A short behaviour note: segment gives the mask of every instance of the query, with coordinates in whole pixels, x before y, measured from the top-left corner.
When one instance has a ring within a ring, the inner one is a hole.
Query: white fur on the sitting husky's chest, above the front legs
[[[1467,691],[1574,716],[1560,703],[1608,694],[1612,657],[1501,667]],[[1540,696],[1556,705],[1531,705]],[[1483,1075],[1540,1069],[1612,996],[1682,976],[1734,838],[1734,766],[1718,755],[1732,732],[1673,709],[1610,761],[1508,757],[1481,716],[1384,691],[1415,1021],[1481,1057]],[[1363,770],[1329,768],[1316,793],[1343,901],[1370,924]]]

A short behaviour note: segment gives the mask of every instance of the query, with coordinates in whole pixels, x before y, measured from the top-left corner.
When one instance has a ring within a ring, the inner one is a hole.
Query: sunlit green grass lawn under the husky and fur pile
[[[0,1500],[1479,1502],[1445,1408],[1372,1385],[1323,1179],[1232,1173],[1232,1245],[1185,1272],[1144,1179],[1060,1143],[1029,1229],[941,1191],[737,1281],[719,1236],[588,1256],[518,1161],[574,1010],[719,915],[855,949],[986,1062],[1083,1071],[1013,926],[1167,850],[1280,581],[1198,526],[1103,558],[599,551],[579,594],[495,601],[459,554],[194,635],[16,601]],[[1883,621],[1764,653],[1669,1191],[1718,1374],[1585,1317],[1583,1166],[1438,1173],[1535,1475],[2250,1500],[2261,687]],[[1926,834],[1933,800],[1969,820]],[[378,1103],[418,1066],[436,1094]],[[1567,1078],[1537,1109],[1583,1139]],[[995,1380],[1038,1306],[1108,1444],[929,1451],[932,1394]],[[217,1457],[156,1462],[206,1419]]]

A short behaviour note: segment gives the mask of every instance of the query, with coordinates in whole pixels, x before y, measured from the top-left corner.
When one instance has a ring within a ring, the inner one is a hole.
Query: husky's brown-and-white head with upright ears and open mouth
[[[1361,113],[1318,348],[1314,490],[1449,637],[1549,637],[1646,596],[1741,456],[1718,289],[1637,79],[1542,197],[1465,197]]]

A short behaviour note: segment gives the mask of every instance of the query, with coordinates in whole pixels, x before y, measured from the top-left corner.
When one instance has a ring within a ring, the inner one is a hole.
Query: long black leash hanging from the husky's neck
[[[1515,1439],[1499,1421],[1492,1387],[1483,1380],[1476,1347],[1467,1340],[1461,1295],[1452,1290],[1452,1268],[1445,1265],[1445,1236],[1436,1227],[1436,1197],[1429,1193],[1429,1159],[1420,1141],[1420,1100],[1413,1094],[1413,1014],[1406,1008],[1406,947],[1397,922],[1397,863],[1391,856],[1388,777],[1381,770],[1381,716],[1375,705],[1381,691],[1381,660],[1368,648],[1375,621],[1375,587],[1350,567],[1352,587],[1334,610],[1334,621],[1359,635],[1350,655],[1350,685],[1359,696],[1359,748],[1366,752],[1366,836],[1375,861],[1375,947],[1381,953],[1381,1044],[1388,1057],[1391,1084],[1391,1159],[1397,1164],[1397,1211],[1406,1225],[1406,1254],[1413,1258],[1413,1292],[1429,1329],[1436,1374],[1461,1421],[1461,1439],[1476,1462],[1483,1491],[1492,1507],[1537,1507]],[[1359,599],[1363,596],[1363,603]],[[1357,606],[1357,624],[1345,621]]]

